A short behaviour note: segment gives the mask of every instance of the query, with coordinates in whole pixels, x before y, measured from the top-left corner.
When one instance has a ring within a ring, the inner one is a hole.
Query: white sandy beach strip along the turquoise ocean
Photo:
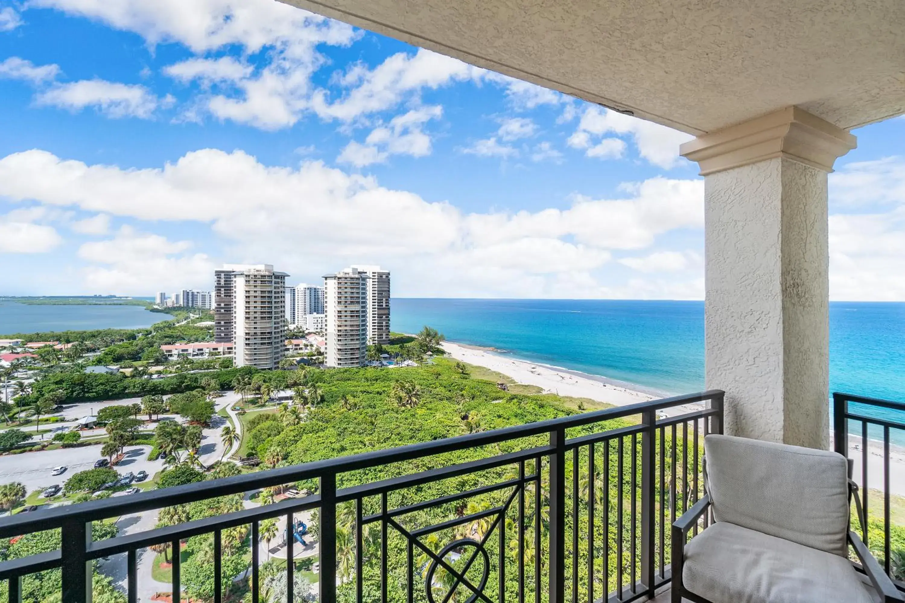
[[[546,393],[556,393],[560,396],[572,396],[575,398],[590,398],[615,406],[625,406],[636,402],[654,400],[658,396],[636,391],[624,385],[616,385],[607,382],[603,377],[595,378],[591,375],[583,375],[579,372],[556,369],[545,364],[530,363],[518,360],[490,350],[465,344],[452,344],[443,342],[443,350],[449,353],[455,360],[463,363],[476,364],[491,371],[501,372],[514,379],[516,382],[526,385],[537,385]],[[700,405],[680,406],[665,412],[667,415],[680,414],[699,410]],[[832,442],[832,437],[831,437]],[[882,469],[882,442],[870,440],[870,457],[868,457],[868,481],[870,487],[875,490],[883,489]],[[853,478],[861,483],[861,438],[849,436],[849,458],[854,460]],[[905,496],[905,449],[890,447],[890,492],[893,495]],[[880,501],[872,503],[882,504]],[[878,509],[873,506],[873,509]]]

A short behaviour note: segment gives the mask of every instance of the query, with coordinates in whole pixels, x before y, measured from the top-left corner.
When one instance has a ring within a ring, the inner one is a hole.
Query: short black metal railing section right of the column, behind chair
[[[893,539],[893,531],[897,528],[891,517],[893,494],[890,465],[892,437],[897,434],[905,436],[905,402],[834,392],[834,450],[854,461],[853,479],[858,484],[864,517],[868,523],[868,529],[862,530],[862,541],[878,553],[883,570],[896,581],[896,586],[905,590],[905,581],[899,575],[905,568],[897,568],[894,563],[897,552],[905,555],[905,550],[896,551],[892,545],[893,540],[896,540]],[[852,436],[858,439],[854,445]],[[905,441],[905,438],[902,440]],[[872,463],[871,457],[876,457],[879,462]],[[876,469],[879,469],[880,479],[872,478]],[[872,513],[878,499],[881,513]],[[901,532],[905,534],[905,526],[902,528]],[[881,534],[882,542],[876,542],[877,532]]]

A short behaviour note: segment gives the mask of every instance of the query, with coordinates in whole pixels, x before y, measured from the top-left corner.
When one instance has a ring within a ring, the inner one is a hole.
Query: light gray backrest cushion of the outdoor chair
[[[835,452],[757,439],[704,438],[714,517],[846,554],[848,464]]]

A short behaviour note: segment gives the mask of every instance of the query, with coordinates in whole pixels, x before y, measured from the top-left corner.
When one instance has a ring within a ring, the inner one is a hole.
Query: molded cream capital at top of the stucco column
[[[802,108],[786,107],[701,135],[684,143],[680,153],[700,165],[702,176],[774,157],[832,172],[836,158],[856,145],[847,130]]]

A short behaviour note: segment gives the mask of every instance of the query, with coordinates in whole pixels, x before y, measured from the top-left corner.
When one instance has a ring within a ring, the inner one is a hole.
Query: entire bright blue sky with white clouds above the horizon
[[[905,299],[905,119],[830,176],[831,297]],[[271,0],[0,0],[7,295],[703,296],[686,135]]]

